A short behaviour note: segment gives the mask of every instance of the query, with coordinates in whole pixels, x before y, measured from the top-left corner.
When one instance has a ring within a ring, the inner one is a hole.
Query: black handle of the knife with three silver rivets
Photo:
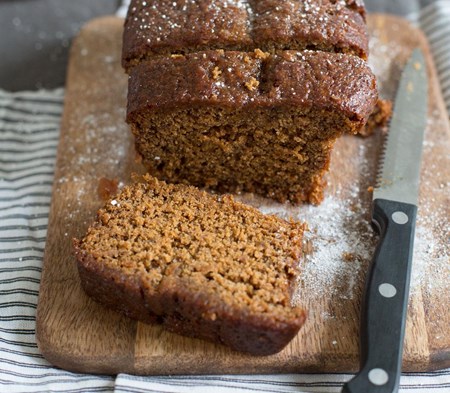
[[[375,199],[380,234],[361,310],[360,371],[343,393],[397,392],[402,364],[417,207]]]

